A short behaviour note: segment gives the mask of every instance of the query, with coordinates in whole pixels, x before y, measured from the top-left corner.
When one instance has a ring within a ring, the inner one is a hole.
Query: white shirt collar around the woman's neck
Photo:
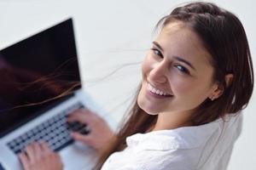
[[[172,130],[159,130],[149,133],[136,133],[126,139],[127,147],[140,147],[142,150],[191,149],[207,142],[214,131],[221,131],[221,119],[201,126],[178,127]]]

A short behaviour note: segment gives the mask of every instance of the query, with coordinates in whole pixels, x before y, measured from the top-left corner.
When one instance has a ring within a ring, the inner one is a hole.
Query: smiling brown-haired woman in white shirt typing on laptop
[[[226,169],[241,132],[241,110],[253,93],[243,26],[212,3],[175,8],[157,26],[136,102],[119,133],[79,110],[68,121],[88,123],[91,133],[73,138],[103,150],[96,169]],[[27,146],[20,160],[25,169],[61,169],[46,144]]]

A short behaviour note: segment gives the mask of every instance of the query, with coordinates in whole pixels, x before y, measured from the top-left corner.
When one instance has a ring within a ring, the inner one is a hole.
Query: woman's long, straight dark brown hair
[[[163,17],[157,28],[164,28],[171,22],[182,21],[185,26],[201,38],[204,48],[211,54],[214,68],[213,81],[223,88],[224,94],[218,99],[206,99],[196,108],[190,122],[193,126],[215,121],[226,114],[236,114],[244,109],[253,94],[253,62],[247,42],[247,36],[241,21],[235,14],[213,3],[189,3],[172,10]],[[225,82],[225,75],[233,74],[230,86]],[[100,169],[108,156],[113,152],[124,150],[126,137],[134,133],[146,133],[156,122],[157,116],[148,115],[137,105],[137,95],[125,117],[115,139],[103,150],[101,159],[96,165]]]

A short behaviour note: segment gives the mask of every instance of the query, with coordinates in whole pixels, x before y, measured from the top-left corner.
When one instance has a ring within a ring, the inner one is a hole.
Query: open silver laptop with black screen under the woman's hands
[[[90,133],[66,117],[79,108],[102,109],[81,86],[70,18],[0,51],[0,163],[22,169],[17,155],[32,141],[58,151],[64,169],[91,169],[96,151],[74,142],[70,131]]]

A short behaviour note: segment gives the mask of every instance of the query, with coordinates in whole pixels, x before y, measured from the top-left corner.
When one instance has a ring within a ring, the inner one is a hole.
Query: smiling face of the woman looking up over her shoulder
[[[152,115],[193,112],[218,88],[210,59],[193,31],[181,22],[168,24],[143,61],[138,105]]]

